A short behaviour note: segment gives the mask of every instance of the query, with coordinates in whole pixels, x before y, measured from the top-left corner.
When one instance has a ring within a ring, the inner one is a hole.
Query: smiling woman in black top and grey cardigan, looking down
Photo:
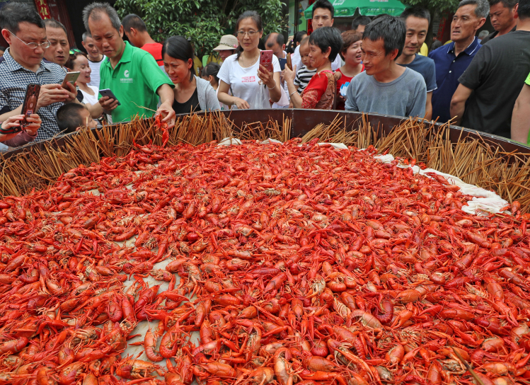
[[[163,42],[163,67],[175,84],[173,110],[177,114],[220,109],[214,88],[195,76],[193,57],[192,45],[183,36],[171,36]]]

